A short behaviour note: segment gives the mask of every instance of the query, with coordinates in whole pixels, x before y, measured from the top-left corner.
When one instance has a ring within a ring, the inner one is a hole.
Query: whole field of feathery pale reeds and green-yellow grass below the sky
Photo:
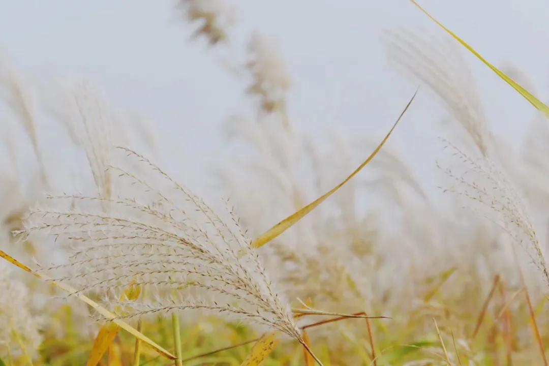
[[[235,6],[173,12],[206,59],[231,43]],[[288,60],[247,35],[223,68],[247,110],[211,131],[225,145],[201,172],[208,200],[93,81],[37,87],[0,54],[0,366],[547,365],[549,107],[520,68],[402,6],[435,32],[384,32],[418,88],[392,120],[366,118],[386,126],[376,138],[301,128]],[[520,149],[488,122],[496,96],[472,63],[531,104]],[[445,110],[434,181],[391,146],[419,98]]]

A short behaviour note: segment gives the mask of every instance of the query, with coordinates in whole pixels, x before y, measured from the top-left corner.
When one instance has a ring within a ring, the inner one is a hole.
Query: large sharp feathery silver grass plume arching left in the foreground
[[[221,218],[145,157],[120,149],[135,169],[145,166],[153,177],[113,166],[121,183],[116,198],[50,196],[47,209],[32,210],[22,234],[48,233],[75,245],[69,262],[40,271],[79,292],[105,294],[120,318],[195,309],[301,341],[288,303],[273,289],[234,215]],[[129,301],[128,289],[146,296]]]

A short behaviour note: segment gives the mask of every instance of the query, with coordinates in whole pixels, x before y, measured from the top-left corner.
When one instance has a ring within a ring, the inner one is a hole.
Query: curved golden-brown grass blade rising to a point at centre
[[[265,244],[267,244],[269,241],[275,239],[276,237],[278,237],[278,235],[282,234],[283,232],[285,232],[287,229],[289,229],[290,227],[292,227],[296,222],[298,222],[301,218],[303,218],[305,215],[307,215],[307,213],[311,212],[312,210],[316,209],[316,207],[318,205],[320,205],[322,202],[324,202],[324,200],[326,200],[329,196],[331,196],[332,194],[334,194],[339,188],[343,187],[343,185],[347,182],[349,182],[351,180],[352,177],[356,176],[356,174],[358,172],[360,172],[362,170],[363,167],[365,167],[373,158],[374,156],[377,155],[377,153],[379,152],[379,150],[381,150],[381,148],[383,147],[383,145],[385,144],[385,142],[389,139],[389,136],[391,136],[391,133],[393,133],[393,130],[395,129],[396,125],[399,123],[399,121],[402,119],[402,116],[404,116],[406,110],[408,109],[408,107],[410,106],[410,104],[412,104],[412,101],[413,99],[416,97],[416,94],[417,94],[417,90],[416,92],[412,95],[412,98],[410,99],[410,102],[408,102],[408,104],[406,105],[406,108],[404,108],[404,110],[401,112],[399,118],[396,120],[396,122],[394,123],[393,127],[391,127],[391,129],[389,130],[389,132],[386,134],[385,138],[382,140],[382,142],[378,145],[378,147],[373,151],[372,154],[370,154],[370,156],[368,156],[368,159],[366,159],[365,161],[362,162],[362,164],[360,166],[358,166],[358,168],[356,168],[356,170],[354,172],[351,173],[350,176],[348,176],[347,178],[345,178],[345,180],[341,183],[339,183],[338,185],[336,185],[334,188],[330,189],[327,193],[325,193],[324,195],[320,196],[319,198],[317,198],[316,200],[312,201],[309,205],[303,207],[301,210],[293,213],[292,215],[288,216],[287,218],[283,219],[281,222],[277,223],[275,226],[273,226],[272,228],[268,229],[265,233],[259,235],[259,237],[257,237],[254,242],[252,243],[252,245],[256,248],[259,248],[260,246],[263,246]]]

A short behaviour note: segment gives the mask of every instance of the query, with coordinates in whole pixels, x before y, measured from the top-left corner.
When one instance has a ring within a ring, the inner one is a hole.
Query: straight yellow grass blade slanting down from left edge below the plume
[[[175,359],[175,356],[173,356],[173,354],[171,354],[170,352],[166,351],[164,348],[162,348],[161,346],[156,344],[152,339],[149,339],[149,337],[147,337],[144,334],[142,334],[141,332],[137,331],[131,325],[129,325],[125,322],[122,322],[122,320],[120,320],[120,319],[117,319],[116,314],[114,314],[114,313],[108,311],[107,309],[105,309],[104,307],[100,306],[97,302],[93,301],[92,299],[89,299],[89,297],[80,294],[79,292],[77,292],[76,289],[72,288],[71,286],[63,284],[63,283],[52,281],[50,278],[46,277],[45,275],[42,275],[42,274],[37,273],[35,271],[32,271],[32,269],[25,266],[25,264],[19,262],[18,260],[16,260],[15,258],[8,255],[7,253],[5,253],[2,250],[0,250],[0,257],[4,258],[4,260],[14,264],[15,266],[17,266],[21,269],[24,269],[26,272],[32,273],[33,275],[40,278],[41,280],[48,281],[49,283],[54,284],[58,288],[60,288],[62,290],[65,290],[66,292],[69,292],[69,294],[74,294],[76,297],[78,297],[78,299],[82,300],[83,302],[86,302],[89,306],[96,309],[96,311],[98,313],[100,313],[101,315],[103,315],[105,318],[112,319],[114,324],[120,326],[120,328],[124,329],[125,331],[127,331],[131,335],[133,335],[135,337],[138,337],[143,342],[145,342],[149,346],[153,347],[154,350],[159,352],[161,355],[163,355],[167,358],[170,358],[170,359]]]

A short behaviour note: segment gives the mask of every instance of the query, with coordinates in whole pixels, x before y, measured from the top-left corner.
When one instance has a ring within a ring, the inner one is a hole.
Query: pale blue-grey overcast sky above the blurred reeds
[[[301,131],[318,134],[337,128],[349,135],[382,138],[417,87],[389,66],[383,32],[442,32],[406,0],[232,3],[238,10],[232,49],[242,53],[253,31],[275,38],[293,78],[290,117]],[[220,66],[222,52],[208,48],[205,40],[189,38],[195,26],[176,4],[0,0],[0,50],[19,71],[38,81],[84,76],[116,109],[153,121],[165,164],[187,184],[197,185],[209,177],[215,156],[224,151],[223,122],[249,109],[242,80]],[[547,100],[546,0],[421,4],[496,66],[522,70],[535,80],[539,97]],[[493,131],[518,146],[535,111],[477,59],[463,54]],[[434,157],[424,157],[440,134],[433,129],[444,116],[438,105],[421,90],[390,141],[419,172],[433,167]]]

